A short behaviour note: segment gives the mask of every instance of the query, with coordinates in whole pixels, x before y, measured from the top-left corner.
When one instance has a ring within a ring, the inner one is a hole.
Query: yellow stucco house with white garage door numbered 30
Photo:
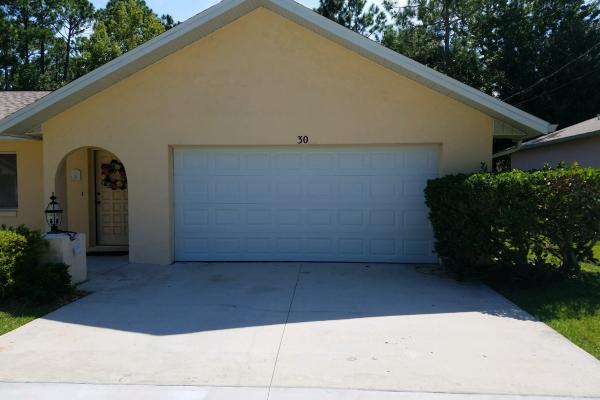
[[[551,130],[291,0],[225,0],[0,120],[43,177],[0,222],[43,227],[56,192],[133,262],[432,262],[427,180]]]

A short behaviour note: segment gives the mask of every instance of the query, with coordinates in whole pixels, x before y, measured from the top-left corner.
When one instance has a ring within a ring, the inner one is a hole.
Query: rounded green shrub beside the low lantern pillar
[[[25,227],[0,229],[0,299],[52,302],[73,293],[68,266],[43,261],[47,243]]]

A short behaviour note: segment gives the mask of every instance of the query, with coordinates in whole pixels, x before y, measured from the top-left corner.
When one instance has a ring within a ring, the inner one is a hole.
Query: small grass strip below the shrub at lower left
[[[51,304],[36,305],[25,301],[0,301],[0,335],[4,335],[34,319],[43,317],[60,307],[75,301],[86,293],[78,291],[74,296],[55,301]]]

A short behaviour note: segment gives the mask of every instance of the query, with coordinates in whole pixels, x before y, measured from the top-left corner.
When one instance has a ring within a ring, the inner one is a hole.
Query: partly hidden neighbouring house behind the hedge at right
[[[530,170],[545,164],[578,163],[600,168],[600,115],[548,135],[528,140],[499,152],[494,157],[510,156],[511,167]]]

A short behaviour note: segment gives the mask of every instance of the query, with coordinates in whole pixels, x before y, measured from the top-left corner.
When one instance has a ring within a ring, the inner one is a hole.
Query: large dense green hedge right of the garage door
[[[598,169],[449,175],[430,180],[425,197],[436,251],[461,275],[573,275],[600,240]]]

